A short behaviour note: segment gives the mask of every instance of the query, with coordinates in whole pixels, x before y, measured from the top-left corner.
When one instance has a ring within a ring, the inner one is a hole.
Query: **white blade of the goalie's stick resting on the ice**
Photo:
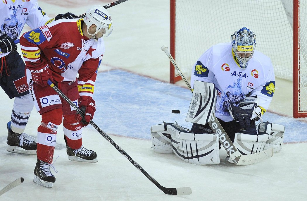
[[[238,161],[236,165],[250,165],[253,163],[266,160],[273,156],[273,148],[266,149],[255,154],[242,155],[239,151],[232,153],[229,157],[231,160]]]

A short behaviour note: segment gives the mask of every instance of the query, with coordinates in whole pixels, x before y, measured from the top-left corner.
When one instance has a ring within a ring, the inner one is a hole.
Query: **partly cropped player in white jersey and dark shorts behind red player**
[[[31,136],[23,133],[33,109],[33,100],[25,78],[25,64],[16,51],[14,41],[27,24],[32,29],[54,20],[75,18],[72,13],[49,18],[37,4],[31,1],[3,1],[0,4],[0,85],[10,99],[14,99],[11,121],[7,123],[7,151],[36,154],[37,144]]]

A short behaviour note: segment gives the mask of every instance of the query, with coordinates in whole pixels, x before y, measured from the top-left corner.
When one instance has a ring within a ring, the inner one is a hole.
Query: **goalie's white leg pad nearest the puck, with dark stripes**
[[[153,149],[158,153],[175,153],[192,164],[219,164],[217,134],[192,133],[177,124],[151,127]]]

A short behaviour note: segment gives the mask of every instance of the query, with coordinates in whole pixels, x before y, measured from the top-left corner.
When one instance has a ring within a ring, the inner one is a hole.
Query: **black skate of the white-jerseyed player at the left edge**
[[[19,134],[11,129],[11,122],[7,123],[6,151],[18,154],[36,154],[37,144],[34,138],[25,133]]]

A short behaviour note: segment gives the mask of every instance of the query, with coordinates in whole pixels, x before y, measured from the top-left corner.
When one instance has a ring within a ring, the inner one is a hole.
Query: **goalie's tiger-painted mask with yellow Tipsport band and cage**
[[[233,52],[242,69],[247,68],[247,62],[254,54],[256,47],[256,35],[253,31],[243,27],[231,35]]]

